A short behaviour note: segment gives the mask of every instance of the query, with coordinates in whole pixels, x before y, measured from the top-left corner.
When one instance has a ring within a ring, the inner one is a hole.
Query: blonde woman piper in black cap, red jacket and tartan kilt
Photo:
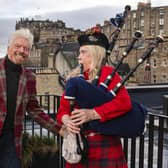
[[[106,57],[106,50],[109,47],[108,39],[105,34],[92,29],[91,32],[79,36],[78,42],[80,45],[78,63],[83,65],[85,80],[92,82]],[[113,67],[111,66],[102,67],[99,84],[107,78],[112,70]],[[79,76],[79,74],[80,66],[69,74],[67,80]],[[113,89],[119,81],[120,77],[116,73],[108,90]],[[70,103],[64,95],[65,93],[61,98],[57,119],[58,122],[66,126],[70,134],[79,133],[79,127],[83,124],[87,125],[91,120],[98,119],[100,122],[106,122],[127,113],[131,109],[130,96],[124,86],[113,100],[93,109],[78,109],[76,105],[71,113]],[[88,126],[84,126],[84,135],[88,143],[87,160],[77,164],[66,163],[66,168],[127,168],[119,137],[94,132]]]

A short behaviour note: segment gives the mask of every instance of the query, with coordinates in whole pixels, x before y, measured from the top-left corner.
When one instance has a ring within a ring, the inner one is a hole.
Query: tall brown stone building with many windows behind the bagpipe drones
[[[110,38],[114,27],[105,21],[102,31]],[[142,39],[126,58],[130,67],[145,52],[149,43],[157,35],[162,35],[165,42],[154,49],[151,57],[141,65],[130,82],[135,84],[154,84],[168,82],[168,6],[152,7],[150,1],[138,3],[137,10],[128,12],[125,25],[121,30],[116,46],[111,54],[113,61],[120,60],[125,47],[129,44],[136,30],[143,33]]]

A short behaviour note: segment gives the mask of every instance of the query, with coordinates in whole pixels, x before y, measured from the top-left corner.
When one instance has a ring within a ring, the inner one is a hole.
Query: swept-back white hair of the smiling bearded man
[[[12,35],[10,36],[9,41],[8,41],[8,46],[10,46],[17,37],[23,37],[23,38],[27,39],[29,41],[30,48],[32,47],[33,34],[30,32],[29,29],[22,28],[22,29],[18,29],[14,33],[12,33]]]

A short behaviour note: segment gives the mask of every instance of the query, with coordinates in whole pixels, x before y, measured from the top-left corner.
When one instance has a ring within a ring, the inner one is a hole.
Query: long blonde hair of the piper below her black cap
[[[103,58],[106,56],[106,50],[104,47],[98,45],[86,45],[89,49],[91,55],[91,65],[89,70],[89,80],[93,80],[100,69]],[[80,74],[80,66],[75,68],[68,76],[67,79],[71,77],[78,76]]]

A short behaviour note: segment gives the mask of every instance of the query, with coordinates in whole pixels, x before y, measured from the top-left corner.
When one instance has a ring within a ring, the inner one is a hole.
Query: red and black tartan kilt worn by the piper
[[[87,142],[89,151],[86,163],[67,163],[66,168],[127,168],[120,138],[96,134],[87,136]]]

